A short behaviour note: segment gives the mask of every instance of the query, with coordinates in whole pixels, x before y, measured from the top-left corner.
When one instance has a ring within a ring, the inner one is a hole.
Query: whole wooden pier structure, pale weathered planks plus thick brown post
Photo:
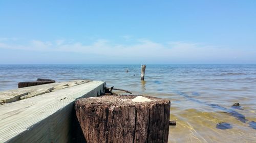
[[[76,80],[2,91],[0,142],[167,143],[169,100],[101,96],[109,89],[103,81]]]

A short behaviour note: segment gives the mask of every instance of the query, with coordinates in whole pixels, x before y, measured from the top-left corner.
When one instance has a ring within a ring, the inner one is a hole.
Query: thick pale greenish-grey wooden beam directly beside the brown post
[[[97,96],[104,84],[92,81],[0,105],[0,142],[73,142],[75,99]]]

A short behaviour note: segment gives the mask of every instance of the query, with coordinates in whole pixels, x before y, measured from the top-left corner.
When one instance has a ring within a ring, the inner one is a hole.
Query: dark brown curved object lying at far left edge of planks
[[[52,79],[37,78],[36,81],[18,82],[18,88],[25,88],[25,87],[31,87],[35,85],[48,84],[48,83],[54,83],[54,82],[55,80],[52,80]]]

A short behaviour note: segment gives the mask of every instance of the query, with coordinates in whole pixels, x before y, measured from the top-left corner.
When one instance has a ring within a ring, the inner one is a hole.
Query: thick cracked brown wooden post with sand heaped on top
[[[168,142],[170,101],[150,96],[79,99],[76,116],[90,142]]]

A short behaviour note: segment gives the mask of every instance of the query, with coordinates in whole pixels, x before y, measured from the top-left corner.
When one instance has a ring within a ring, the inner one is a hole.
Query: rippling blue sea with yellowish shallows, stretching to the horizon
[[[170,126],[168,142],[256,142],[256,65],[147,65],[145,81],[140,70],[141,65],[0,65],[0,91],[37,78],[103,80],[134,95],[170,99],[170,120],[177,125]],[[240,107],[232,107],[235,102]]]

